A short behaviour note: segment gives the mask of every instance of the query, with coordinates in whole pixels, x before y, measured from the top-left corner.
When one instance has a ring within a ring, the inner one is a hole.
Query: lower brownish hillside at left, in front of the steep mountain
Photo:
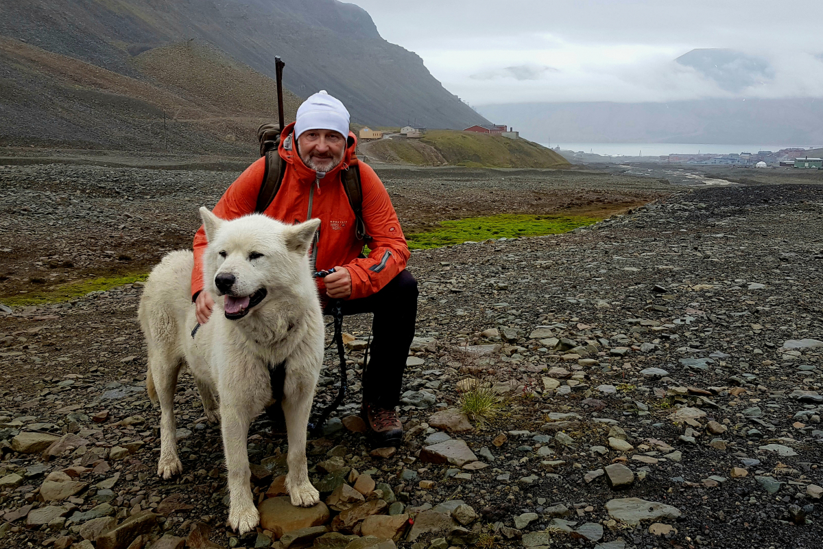
[[[130,77],[0,37],[0,67],[2,145],[248,156],[277,120],[272,79],[192,42],[147,51]],[[285,95],[291,121],[300,98]]]

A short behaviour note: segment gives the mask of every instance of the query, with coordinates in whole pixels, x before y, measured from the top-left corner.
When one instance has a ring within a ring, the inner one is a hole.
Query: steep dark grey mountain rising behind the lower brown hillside
[[[421,58],[383,40],[368,13],[337,0],[0,0],[0,7],[0,35],[137,79],[134,55],[198,39],[268,77],[281,55],[288,89],[303,97],[326,89],[357,122],[486,123]]]

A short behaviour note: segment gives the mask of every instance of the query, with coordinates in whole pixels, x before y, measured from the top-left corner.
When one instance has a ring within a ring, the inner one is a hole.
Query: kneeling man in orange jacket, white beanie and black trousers
[[[417,282],[406,270],[409,249],[391,200],[374,170],[357,160],[356,137],[342,103],[320,91],[297,110],[295,123],[283,128],[277,149],[285,170],[282,183],[263,213],[278,221],[301,223],[319,218],[309,254],[314,270],[334,272],[318,279],[321,297],[342,300],[342,313],[374,313],[370,361],[363,373],[362,416],[375,446],[397,446],[402,424],[395,407],[415,332]],[[256,211],[266,157],[247,168],[223,194],[213,213],[231,220]],[[361,221],[344,187],[346,170],[359,169]],[[368,244],[370,254],[362,254]],[[202,254],[207,240],[200,227],[194,237],[192,299],[198,322],[208,321],[213,296],[203,291]],[[323,300],[328,304],[328,299]],[[328,311],[327,311],[328,312]]]

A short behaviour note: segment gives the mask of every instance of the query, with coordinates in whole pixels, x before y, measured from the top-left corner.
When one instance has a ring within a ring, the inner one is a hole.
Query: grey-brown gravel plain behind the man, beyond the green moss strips
[[[608,216],[672,191],[643,178],[572,170],[379,173],[407,232],[502,212]],[[91,275],[147,272],[170,250],[191,246],[198,207],[212,207],[238,175],[0,165],[0,301]]]

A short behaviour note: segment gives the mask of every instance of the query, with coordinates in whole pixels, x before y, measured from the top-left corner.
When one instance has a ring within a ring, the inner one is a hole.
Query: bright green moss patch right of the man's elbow
[[[442,221],[437,230],[406,235],[410,249],[429,249],[467,240],[482,242],[488,239],[517,238],[565,233],[578,227],[592,225],[597,219],[581,216],[528,216],[500,214],[498,216],[466,217]]]

